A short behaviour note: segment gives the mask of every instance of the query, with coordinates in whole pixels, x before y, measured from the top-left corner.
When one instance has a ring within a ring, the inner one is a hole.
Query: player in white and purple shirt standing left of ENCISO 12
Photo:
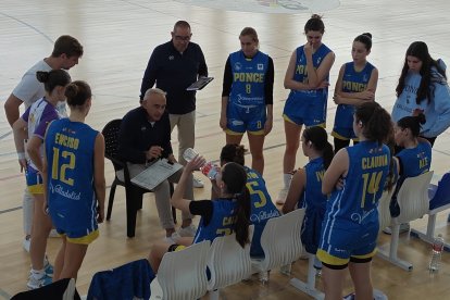
[[[36,289],[51,284],[53,268],[46,259],[47,238],[52,224],[45,213],[45,197],[42,184],[42,142],[47,126],[60,116],[57,105],[65,100],[65,88],[71,83],[71,76],[63,70],[36,72],[36,77],[43,83],[46,96],[29,107],[13,125],[15,148],[18,153],[21,171],[26,170],[26,184],[35,200],[33,215],[33,238],[29,249],[32,271],[27,287]],[[28,133],[28,134],[27,134]],[[25,158],[24,141],[28,138]]]

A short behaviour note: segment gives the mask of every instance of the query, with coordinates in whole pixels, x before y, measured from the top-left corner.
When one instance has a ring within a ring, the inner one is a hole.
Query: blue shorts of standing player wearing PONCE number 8
[[[263,135],[266,120],[265,105],[238,105],[228,102],[226,110],[228,135]]]

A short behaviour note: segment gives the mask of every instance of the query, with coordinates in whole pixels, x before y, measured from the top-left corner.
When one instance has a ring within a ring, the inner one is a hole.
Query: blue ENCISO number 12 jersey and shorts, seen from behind
[[[49,211],[59,232],[82,237],[97,229],[93,187],[97,135],[88,125],[68,118],[54,121],[47,132]]]

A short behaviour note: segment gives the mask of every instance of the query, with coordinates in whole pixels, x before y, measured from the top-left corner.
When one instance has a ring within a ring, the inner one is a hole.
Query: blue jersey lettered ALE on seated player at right
[[[415,148],[405,148],[396,154],[400,159],[401,178],[415,177],[429,171],[432,145],[421,141]]]

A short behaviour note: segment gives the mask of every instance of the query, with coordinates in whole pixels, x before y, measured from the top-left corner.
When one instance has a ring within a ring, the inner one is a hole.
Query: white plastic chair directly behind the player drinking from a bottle
[[[250,225],[250,240],[252,236],[253,225]],[[208,282],[210,299],[218,299],[221,288],[237,284],[251,275],[250,245],[247,243],[242,248],[236,241],[236,234],[214,239],[207,262],[211,272],[211,278]]]

